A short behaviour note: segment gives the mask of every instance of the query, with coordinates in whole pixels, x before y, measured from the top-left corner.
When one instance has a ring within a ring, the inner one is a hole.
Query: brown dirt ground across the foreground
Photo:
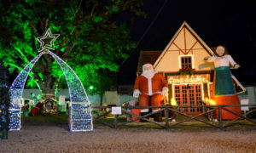
[[[1,135],[1,134],[0,134]],[[65,126],[27,125],[0,139],[0,152],[256,152],[256,127],[153,128],[95,127],[87,133],[70,133]]]

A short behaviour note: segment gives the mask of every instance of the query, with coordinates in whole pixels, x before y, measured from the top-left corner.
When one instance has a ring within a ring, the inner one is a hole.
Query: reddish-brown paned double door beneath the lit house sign
[[[200,114],[201,108],[193,108],[190,106],[201,105],[201,84],[181,84],[174,85],[174,96],[177,104],[180,106],[188,106],[180,109],[181,112],[187,114]]]

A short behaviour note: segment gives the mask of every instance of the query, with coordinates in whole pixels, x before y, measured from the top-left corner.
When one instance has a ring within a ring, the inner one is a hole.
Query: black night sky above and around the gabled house
[[[136,18],[131,28],[132,38],[138,46],[121,65],[119,84],[133,84],[139,52],[166,48],[185,20],[210,48],[218,45],[228,48],[233,59],[241,65],[232,73],[243,85],[256,85],[255,8],[253,0],[145,0],[143,11],[148,15]],[[122,14],[121,18],[125,20],[131,15]]]

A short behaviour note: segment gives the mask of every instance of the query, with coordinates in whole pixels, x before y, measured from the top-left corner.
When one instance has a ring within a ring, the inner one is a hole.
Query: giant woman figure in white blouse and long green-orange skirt
[[[234,59],[227,53],[226,48],[218,46],[215,50],[216,56],[206,57],[207,62],[214,62],[214,89],[212,99],[216,101],[217,105],[240,105],[240,100],[236,94],[234,83],[230,73],[230,65],[238,69],[240,65],[236,64]],[[226,107],[230,111],[241,114],[240,107]],[[218,111],[217,111],[218,117]],[[222,119],[230,120],[236,118],[236,115],[228,111],[222,113]]]

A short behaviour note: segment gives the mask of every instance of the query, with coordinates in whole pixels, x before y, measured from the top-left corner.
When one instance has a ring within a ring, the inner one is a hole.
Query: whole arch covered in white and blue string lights
[[[67,65],[56,54],[49,50],[41,52],[26,67],[20,71],[18,77],[10,87],[10,107],[9,107],[9,128],[10,130],[20,130],[20,114],[21,114],[21,99],[23,89],[26,83],[26,78],[33,66],[43,54],[50,54],[61,66],[69,89],[71,99],[71,109],[69,112],[69,129],[72,132],[77,131],[91,131],[93,129],[90,101],[84,90],[84,86],[79,77],[75,74],[72,68]]]

